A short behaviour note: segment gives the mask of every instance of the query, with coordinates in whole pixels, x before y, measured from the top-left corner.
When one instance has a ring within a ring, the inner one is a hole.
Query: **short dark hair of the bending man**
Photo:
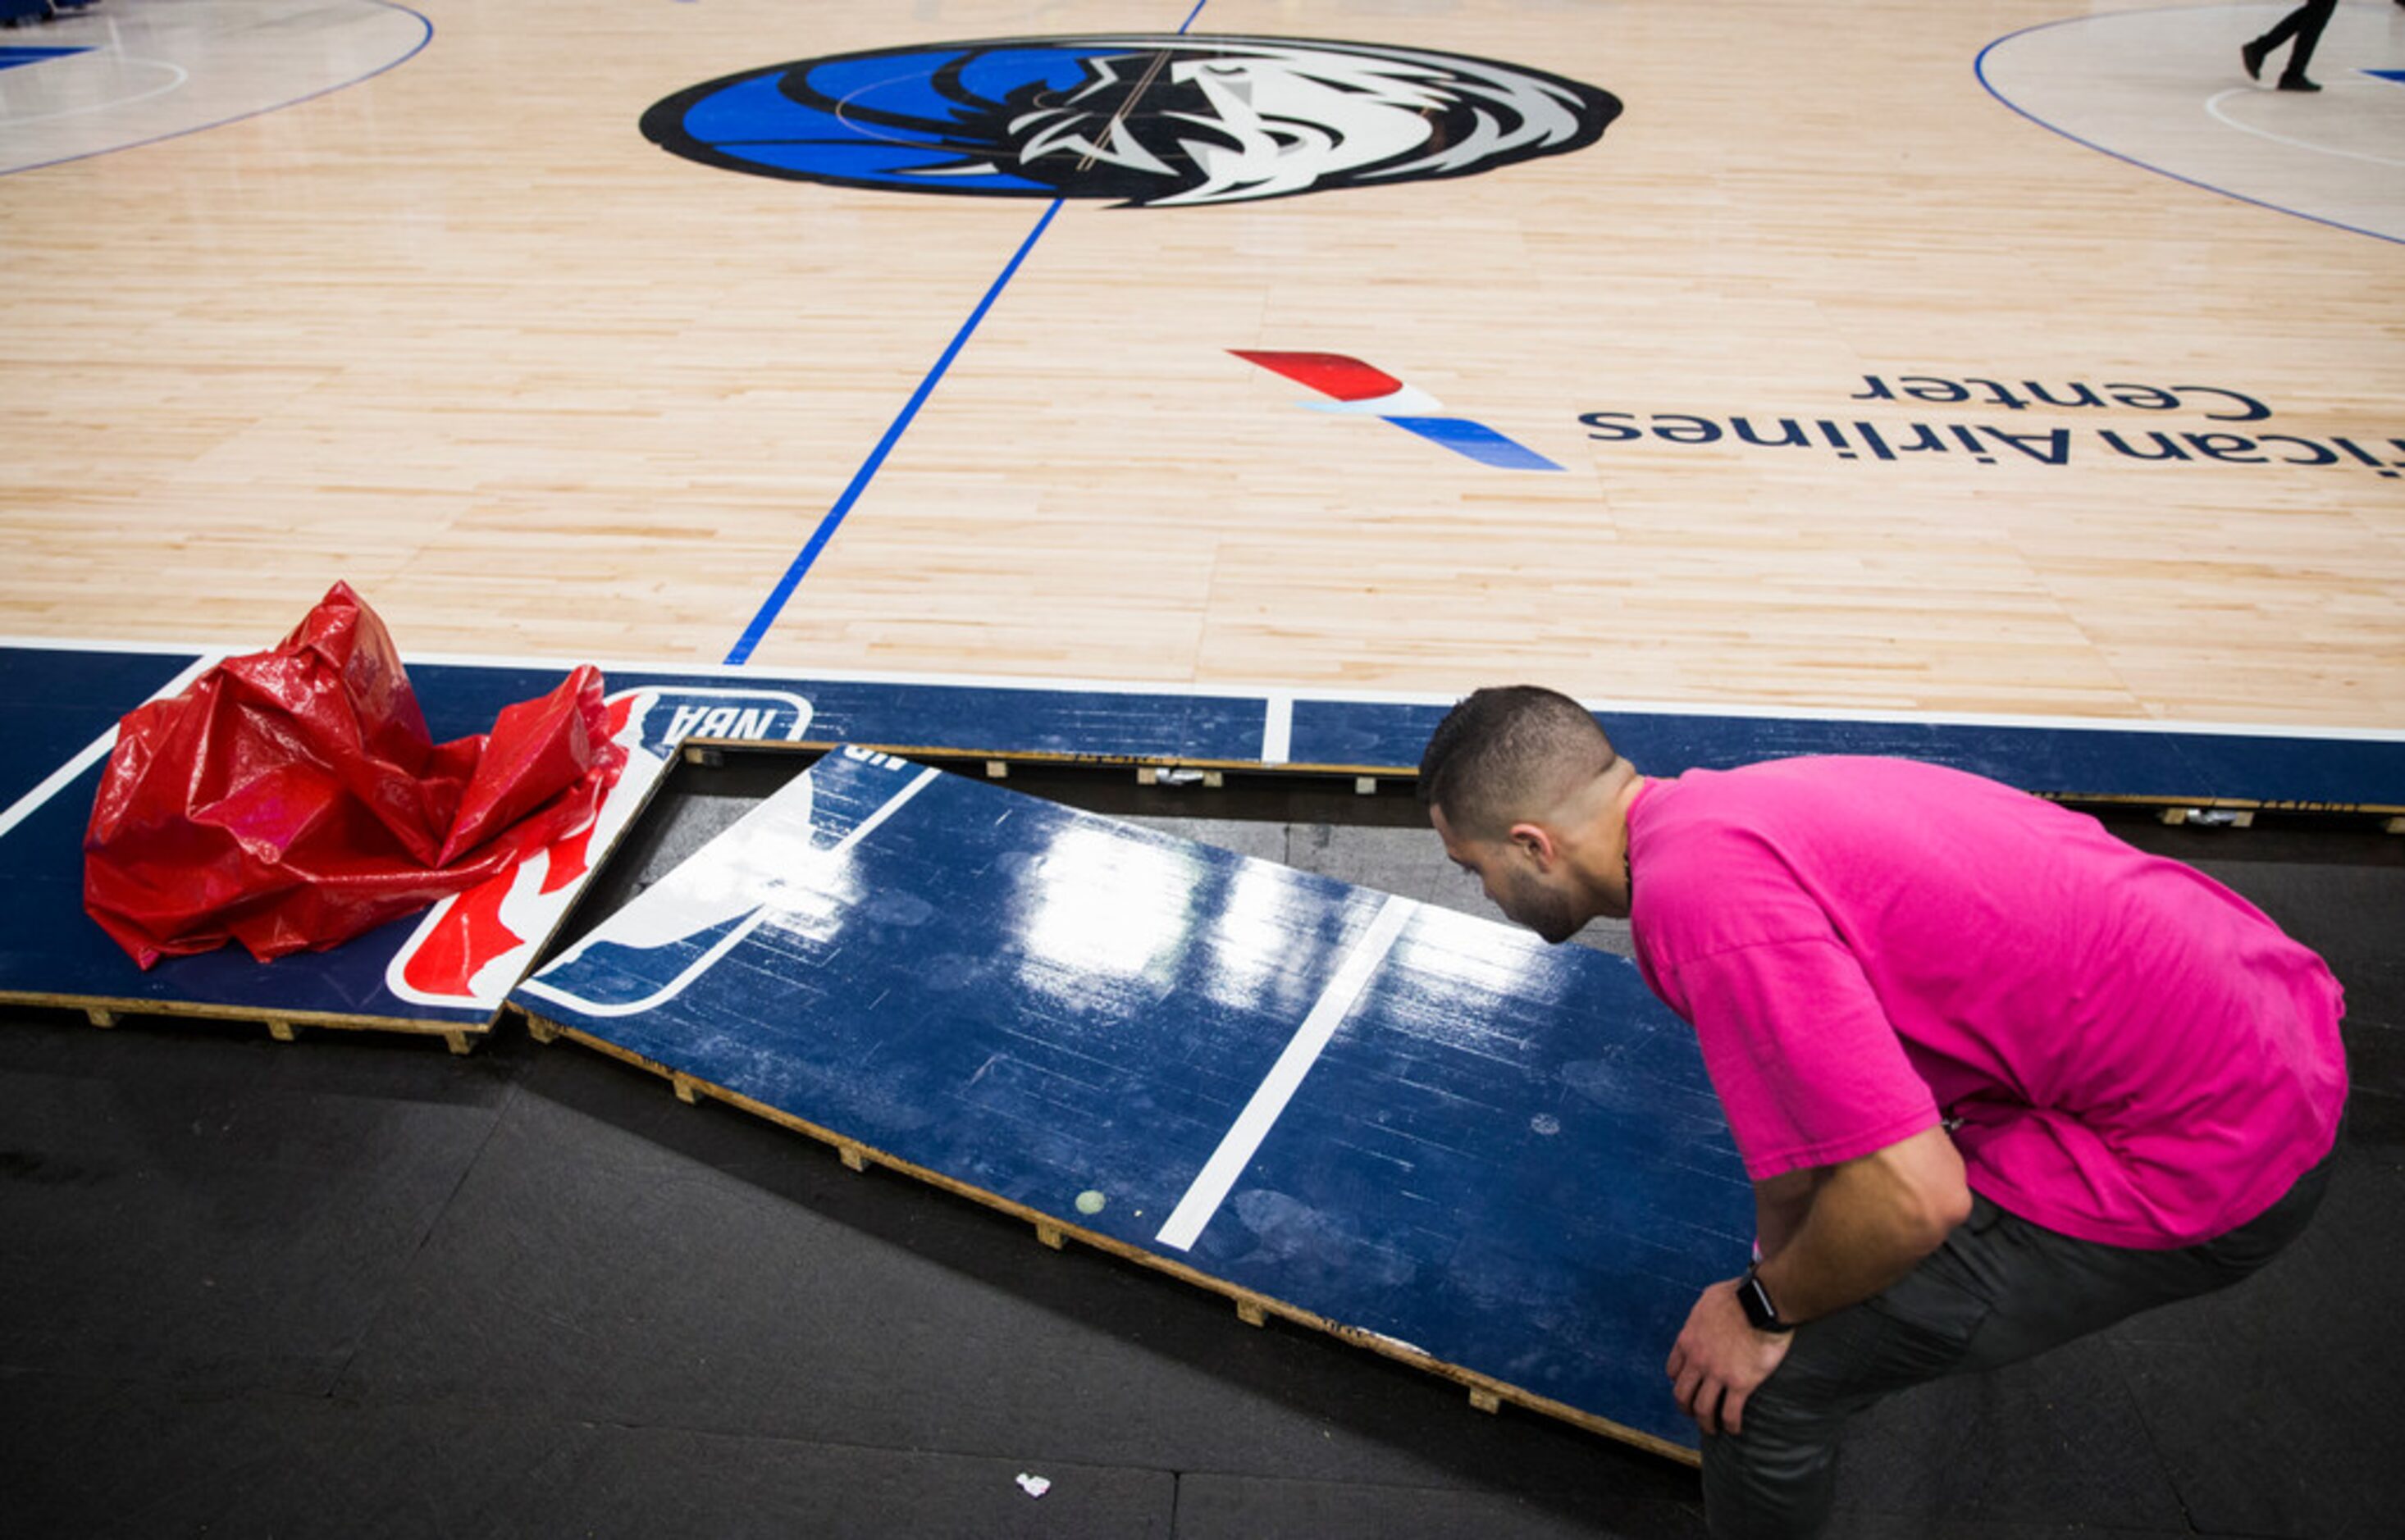
[[[1419,802],[1469,838],[1494,838],[1568,786],[1619,764],[1595,716],[1542,685],[1477,690],[1436,723],[1419,757]]]

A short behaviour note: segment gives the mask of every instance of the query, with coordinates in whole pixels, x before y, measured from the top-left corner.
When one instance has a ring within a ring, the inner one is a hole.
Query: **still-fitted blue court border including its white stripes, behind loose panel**
[[[99,735],[212,653],[204,646],[0,637],[0,999],[488,1031],[493,1011],[483,1007],[426,1004],[390,987],[387,966],[409,944],[416,915],[334,951],[296,954],[274,966],[250,963],[231,949],[171,959],[149,973],[84,918],[82,836],[106,752]],[[1450,706],[1450,697],[1308,687],[596,663],[611,692],[798,697],[808,716],[786,740],[878,745],[919,759],[1409,778]],[[409,663],[438,740],[486,730],[503,706],[556,687],[565,668],[491,656]],[[1902,754],[2073,802],[2405,819],[2405,730],[1590,706],[1621,750],[1657,776],[1787,754]],[[760,738],[777,733],[753,740]],[[669,757],[671,750],[661,742],[654,752]]]

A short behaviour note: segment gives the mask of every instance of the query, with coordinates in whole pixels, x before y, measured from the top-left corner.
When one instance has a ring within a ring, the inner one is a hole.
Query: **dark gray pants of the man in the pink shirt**
[[[1744,1432],[1703,1439],[1717,1540],[1818,1535],[1845,1420],[1914,1384],[1994,1369],[2172,1300],[2210,1295],[2304,1232],[2330,1158],[2246,1225],[2177,1252],[2056,1235],[1972,1196],[1970,1218],[1888,1293],[1797,1329],[1744,1405]]]

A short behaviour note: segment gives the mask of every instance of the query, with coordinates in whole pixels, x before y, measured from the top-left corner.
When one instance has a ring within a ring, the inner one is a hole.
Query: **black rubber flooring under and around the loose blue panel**
[[[1842,1535],[2398,1533],[2405,838],[2124,834],[2345,980],[2330,1201],[2229,1295],[1869,1413]],[[1253,834],[1474,899],[1409,838]],[[1667,1538],[1703,1509],[1681,1466],[515,1021],[452,1057],[26,1009],[0,1016],[0,1533]]]

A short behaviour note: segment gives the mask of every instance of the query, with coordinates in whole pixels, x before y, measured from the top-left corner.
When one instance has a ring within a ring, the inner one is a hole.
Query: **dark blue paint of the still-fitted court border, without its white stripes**
[[[72,759],[195,653],[0,649],[0,788],[14,802]],[[481,733],[512,704],[558,685],[556,663],[418,663],[411,680],[438,740]],[[868,740],[996,754],[1248,762],[1263,752],[1265,699],[1243,694],[1087,692],[1013,685],[808,680],[758,670],[613,673],[613,694],[645,692],[635,730],[652,769],[673,740],[705,730],[721,704],[741,738]],[[1443,706],[1291,704],[1294,764],[1417,764]],[[2232,798],[2292,805],[2405,805],[2405,742],[2241,733],[2131,733],[1955,723],[1712,718],[1616,714],[1631,757],[1655,774],[1780,754],[1907,754],[2044,793]],[[99,771],[0,836],[0,992],[55,999],[149,999],[233,1014],[286,1009],[397,1021],[488,1021],[491,1004],[402,999],[385,973],[416,947],[397,923],[332,954],[284,959],[269,973],[231,956],[178,959],[139,973],[82,915],[82,824]],[[483,987],[483,985],[479,985]],[[495,985],[505,987],[505,985]],[[498,995],[495,995],[498,999]]]

